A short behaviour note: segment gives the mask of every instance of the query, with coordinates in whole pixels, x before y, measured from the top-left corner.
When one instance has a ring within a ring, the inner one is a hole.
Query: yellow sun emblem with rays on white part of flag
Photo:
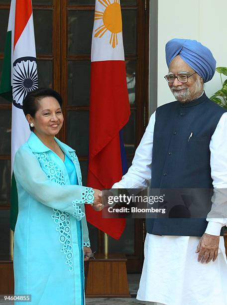
[[[110,44],[113,48],[118,44],[117,33],[122,32],[122,20],[119,0],[99,0],[106,7],[104,11],[95,11],[95,20],[103,19],[103,24],[95,30],[95,37],[103,37],[107,30],[111,32]]]

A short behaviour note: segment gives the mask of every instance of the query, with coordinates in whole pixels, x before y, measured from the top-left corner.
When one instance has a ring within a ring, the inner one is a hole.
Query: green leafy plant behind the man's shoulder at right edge
[[[218,67],[216,71],[220,73],[222,89],[218,90],[210,99],[227,109],[227,79],[224,82],[222,79],[222,74],[227,76],[227,67]]]

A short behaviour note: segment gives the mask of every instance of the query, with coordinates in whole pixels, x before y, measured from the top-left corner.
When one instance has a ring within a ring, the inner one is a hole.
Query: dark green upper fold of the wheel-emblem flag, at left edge
[[[11,86],[11,31],[6,34],[5,49],[4,49],[4,61],[1,73],[0,82],[0,95],[8,100],[12,101],[12,86]]]

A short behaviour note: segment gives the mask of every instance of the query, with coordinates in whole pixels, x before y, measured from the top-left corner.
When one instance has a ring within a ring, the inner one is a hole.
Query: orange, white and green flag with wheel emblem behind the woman
[[[22,111],[26,94],[38,87],[31,0],[11,0],[0,95],[12,101],[11,168],[15,152],[27,141],[30,130]],[[18,212],[12,172],[10,227],[14,231]]]

